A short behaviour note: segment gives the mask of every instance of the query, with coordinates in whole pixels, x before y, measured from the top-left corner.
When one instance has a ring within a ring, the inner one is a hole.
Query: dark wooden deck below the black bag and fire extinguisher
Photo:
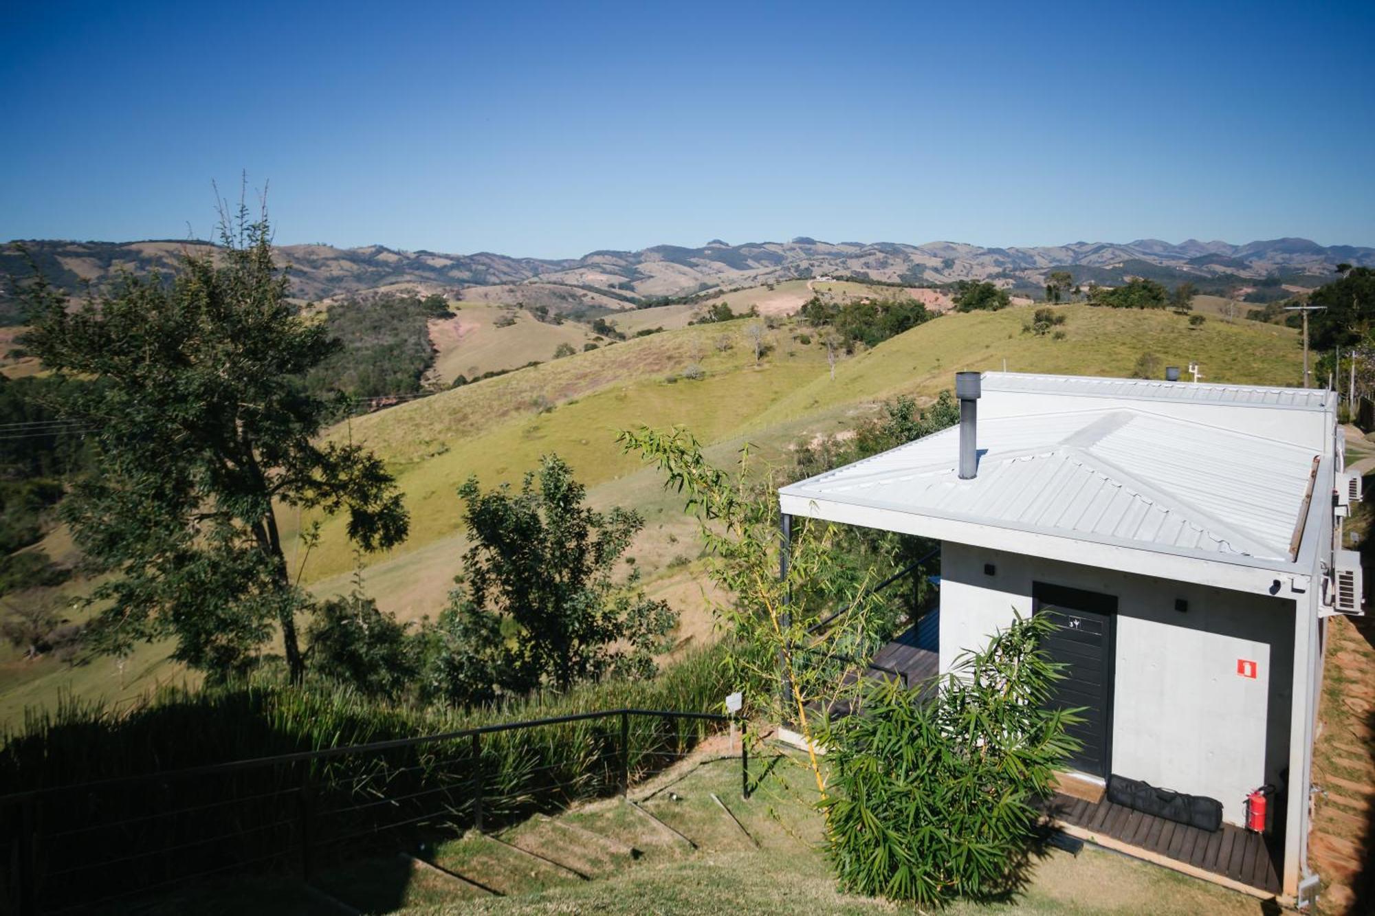
[[[1266,844],[1266,838],[1260,833],[1231,824],[1210,833],[1114,805],[1107,796],[1093,803],[1056,794],[1042,805],[1042,810],[1053,820],[1078,828],[1068,832],[1089,842],[1128,854],[1137,853],[1167,866],[1173,861],[1181,871],[1209,872],[1268,894],[1280,893],[1276,861],[1283,843],[1276,838],[1269,838]]]

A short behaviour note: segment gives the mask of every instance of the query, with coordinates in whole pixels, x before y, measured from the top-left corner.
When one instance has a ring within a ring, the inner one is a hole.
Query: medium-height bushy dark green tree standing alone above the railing
[[[588,509],[586,488],[557,455],[527,473],[518,492],[506,484],[483,492],[470,477],[458,494],[472,547],[440,622],[466,642],[450,641],[463,653],[447,663],[463,671],[450,696],[566,690],[605,674],[653,674],[675,616],[645,596],[638,569],[617,576],[623,560],[632,563],[626,552],[645,524],[638,513]]]

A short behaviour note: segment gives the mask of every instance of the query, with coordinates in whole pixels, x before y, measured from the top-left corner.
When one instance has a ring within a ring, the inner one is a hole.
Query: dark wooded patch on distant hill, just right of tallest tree
[[[429,322],[452,315],[437,293],[371,293],[331,305],[324,331],[338,344],[305,373],[307,391],[351,399],[419,392],[434,364]]]

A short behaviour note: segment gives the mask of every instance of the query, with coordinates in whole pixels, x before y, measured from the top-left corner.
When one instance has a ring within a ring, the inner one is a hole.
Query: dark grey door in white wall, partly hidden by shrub
[[[1055,631],[1042,648],[1066,667],[1050,706],[1079,708],[1078,725],[1067,730],[1084,747],[1070,758],[1082,773],[1107,777],[1112,767],[1112,623],[1116,598],[1038,583],[1037,613],[1049,616]]]

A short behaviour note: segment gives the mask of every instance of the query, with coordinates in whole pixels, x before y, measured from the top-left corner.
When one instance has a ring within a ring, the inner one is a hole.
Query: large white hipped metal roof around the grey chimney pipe
[[[978,444],[972,480],[958,477],[960,430],[950,428],[780,494],[1288,563],[1314,458],[1301,446],[1130,406],[980,419]]]

